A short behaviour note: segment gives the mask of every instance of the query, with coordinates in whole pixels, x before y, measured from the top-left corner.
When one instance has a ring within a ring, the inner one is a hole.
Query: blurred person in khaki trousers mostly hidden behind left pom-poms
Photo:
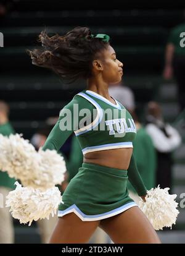
[[[33,144],[36,150],[38,150],[40,147],[43,147],[44,143],[46,142],[47,136],[49,135],[49,132],[50,132],[49,128],[41,129],[41,130],[38,130],[38,132],[36,132],[31,137],[30,142]],[[64,182],[62,182],[61,186],[59,187],[61,192],[64,192],[65,188],[67,187],[67,184],[68,184],[67,179],[68,179],[68,174],[66,172]],[[49,220],[45,218],[43,220],[36,221],[39,227],[41,242],[43,244],[47,244],[49,242],[52,230],[54,230],[57,220],[58,220],[57,215],[54,215],[53,217],[50,216]]]

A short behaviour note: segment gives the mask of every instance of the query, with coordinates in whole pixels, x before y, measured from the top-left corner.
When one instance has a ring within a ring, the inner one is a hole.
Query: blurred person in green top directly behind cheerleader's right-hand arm
[[[136,163],[138,166],[139,173],[142,177],[142,180],[147,188],[147,190],[155,187],[155,178],[156,178],[156,167],[157,167],[157,156],[154,144],[149,134],[147,134],[146,129],[138,120],[135,112],[131,113],[134,122],[136,124],[137,134],[136,138],[133,141],[133,153],[136,158]],[[128,181],[128,190],[130,197],[138,203],[140,198]]]

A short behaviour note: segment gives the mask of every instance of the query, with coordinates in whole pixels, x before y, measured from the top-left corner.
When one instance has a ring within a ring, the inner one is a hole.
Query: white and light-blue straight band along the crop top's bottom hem
[[[99,146],[92,146],[83,148],[82,153],[83,155],[89,152],[101,151],[101,150],[110,150],[114,148],[133,148],[132,142],[118,142],[118,143],[109,143]]]

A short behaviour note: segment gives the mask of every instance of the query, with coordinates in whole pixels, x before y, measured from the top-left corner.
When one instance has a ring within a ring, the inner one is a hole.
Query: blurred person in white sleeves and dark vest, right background
[[[158,103],[150,101],[147,105],[146,130],[157,150],[157,185],[164,189],[172,189],[171,168],[173,160],[171,152],[181,143],[178,131],[163,120],[162,109]]]

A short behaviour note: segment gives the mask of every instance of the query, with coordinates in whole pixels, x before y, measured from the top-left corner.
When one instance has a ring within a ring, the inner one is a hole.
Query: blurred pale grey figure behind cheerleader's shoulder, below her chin
[[[128,111],[133,111],[135,108],[134,94],[129,87],[126,87],[123,82],[109,85],[109,94],[118,100]]]

